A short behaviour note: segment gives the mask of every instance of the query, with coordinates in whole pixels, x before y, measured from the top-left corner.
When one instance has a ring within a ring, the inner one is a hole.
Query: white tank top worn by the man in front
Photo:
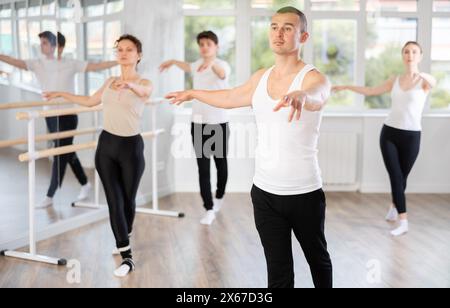
[[[253,96],[253,109],[258,127],[256,173],[254,184],[275,195],[300,195],[322,188],[318,161],[319,130],[322,112],[303,110],[301,120],[288,123],[290,108],[274,112],[279,100],[268,93],[268,80],[273,67],[262,77]],[[302,69],[289,93],[301,90],[307,73]]]

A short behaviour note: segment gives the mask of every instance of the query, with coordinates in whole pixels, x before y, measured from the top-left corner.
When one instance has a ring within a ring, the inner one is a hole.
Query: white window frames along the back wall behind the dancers
[[[235,17],[236,29],[239,35],[236,38],[236,81],[242,84],[251,76],[251,44],[252,44],[252,19],[255,17],[270,17],[273,12],[270,9],[252,8],[252,0],[236,0],[234,9],[183,9],[184,16],[221,16]],[[357,23],[355,82],[359,85],[366,84],[366,38],[368,19],[373,12],[367,11],[368,0],[359,0],[359,10],[313,10],[311,0],[304,1],[304,13],[309,18],[309,32],[312,33],[314,20],[343,19],[354,20]],[[424,50],[424,60],[421,70],[431,72],[432,59],[432,30],[433,18],[450,18],[450,12],[435,12],[433,1],[418,0],[416,12],[377,12],[383,18],[414,18],[417,19],[417,40],[421,42]],[[304,60],[313,63],[314,44],[309,43],[304,47]],[[370,109],[365,106],[365,98],[355,95],[355,102],[349,107],[337,107],[329,110],[332,113],[356,113],[356,114],[385,114],[388,109]],[[450,109],[432,109],[431,96],[428,98],[425,113],[449,114]]]

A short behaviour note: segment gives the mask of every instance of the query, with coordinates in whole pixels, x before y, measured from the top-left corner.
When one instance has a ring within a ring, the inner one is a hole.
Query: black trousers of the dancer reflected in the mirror
[[[47,128],[50,133],[75,130],[78,127],[78,116],[76,115],[51,117],[46,118],[45,120],[47,122]],[[74,138],[71,137],[61,140],[55,140],[55,147],[72,145],[73,139]],[[76,153],[55,156],[52,166],[52,179],[47,192],[47,197],[53,198],[58,187],[62,186],[68,164],[72,168],[73,173],[75,174],[78,182],[80,182],[81,185],[86,185],[88,183],[87,176],[84,173],[83,167],[81,166],[80,160],[78,159]]]

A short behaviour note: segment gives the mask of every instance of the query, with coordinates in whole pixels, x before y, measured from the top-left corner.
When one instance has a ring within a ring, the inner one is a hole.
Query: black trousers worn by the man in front
[[[296,196],[273,195],[253,186],[256,228],[267,261],[269,288],[294,288],[292,232],[311,269],[316,288],[333,287],[333,270],[325,239],[323,190]]]

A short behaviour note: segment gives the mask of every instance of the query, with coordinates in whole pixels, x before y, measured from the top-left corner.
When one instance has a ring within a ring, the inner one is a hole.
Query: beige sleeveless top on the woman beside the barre
[[[111,81],[103,92],[103,129],[120,137],[141,133],[141,119],[145,104],[131,90],[113,90]]]

